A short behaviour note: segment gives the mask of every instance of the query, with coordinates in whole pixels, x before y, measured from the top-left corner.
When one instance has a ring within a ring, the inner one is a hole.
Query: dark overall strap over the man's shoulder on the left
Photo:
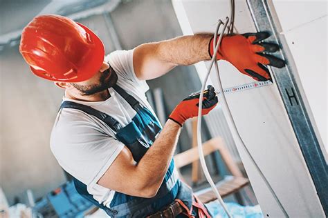
[[[118,121],[116,121],[116,119],[105,114],[104,112],[100,112],[99,110],[95,110],[89,106],[85,106],[83,104],[76,103],[73,101],[64,101],[62,103],[62,105],[60,106],[60,109],[62,109],[62,108],[73,108],[73,109],[82,110],[83,112],[86,112],[87,114],[93,115],[93,116],[97,117],[98,119],[100,119],[101,121],[104,121],[104,123],[106,123],[109,126],[109,128],[111,128],[112,130],[114,130],[116,132],[118,132],[118,130],[120,130],[120,128],[122,128],[122,126],[120,125],[120,123]]]

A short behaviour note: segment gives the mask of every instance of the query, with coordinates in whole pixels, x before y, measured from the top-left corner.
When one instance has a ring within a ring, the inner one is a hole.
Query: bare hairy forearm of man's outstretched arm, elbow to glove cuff
[[[209,60],[208,43],[212,36],[213,34],[196,34],[161,41],[157,52],[164,61],[176,65],[186,66]]]

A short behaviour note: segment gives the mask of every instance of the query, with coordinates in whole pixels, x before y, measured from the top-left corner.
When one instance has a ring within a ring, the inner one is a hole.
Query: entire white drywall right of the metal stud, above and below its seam
[[[327,1],[273,1],[327,152]],[[290,10],[293,10],[291,16]]]

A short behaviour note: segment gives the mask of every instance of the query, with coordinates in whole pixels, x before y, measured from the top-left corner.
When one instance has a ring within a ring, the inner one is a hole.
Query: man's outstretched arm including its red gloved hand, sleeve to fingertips
[[[271,80],[266,66],[282,68],[283,60],[268,52],[276,52],[279,46],[265,43],[267,32],[227,35],[215,56],[229,61],[242,74],[257,81]],[[196,34],[176,37],[156,43],[145,43],[134,50],[134,71],[138,79],[154,79],[164,75],[175,66],[190,65],[209,60],[213,51],[212,34]]]

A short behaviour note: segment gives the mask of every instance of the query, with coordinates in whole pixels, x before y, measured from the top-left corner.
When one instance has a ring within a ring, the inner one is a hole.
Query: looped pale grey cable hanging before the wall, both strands
[[[219,28],[222,24],[224,24],[224,28],[221,30],[220,34],[219,34],[219,40],[217,41],[216,45],[215,43],[213,43],[213,57],[210,61],[210,66],[208,68],[208,73],[206,74],[206,77],[203,81],[203,84],[201,86],[201,92],[199,94],[199,110],[198,110],[198,117],[197,117],[197,148],[198,148],[198,152],[199,152],[199,160],[201,162],[201,168],[203,168],[203,172],[204,175],[206,177],[206,179],[208,180],[208,183],[210,184],[210,186],[212,187],[212,190],[215,192],[215,195],[217,196],[217,199],[219,201],[219,203],[221,204],[222,208],[224,208],[224,211],[226,212],[226,214],[228,215],[228,217],[232,217],[232,215],[230,215],[230,213],[228,212],[228,209],[226,208],[226,205],[224,204],[223,199],[221,198],[221,195],[219,194],[219,191],[217,190],[217,187],[215,186],[214,181],[212,180],[212,177],[210,177],[210,172],[208,172],[208,168],[206,166],[206,162],[205,162],[205,157],[203,155],[203,149],[202,149],[202,143],[201,143],[201,110],[202,110],[202,100],[203,100],[203,92],[205,90],[205,86],[206,86],[206,81],[208,81],[208,77],[210,75],[210,70],[212,69],[213,63],[215,63],[215,70],[217,71],[217,78],[218,78],[218,86],[219,86],[219,93],[221,92],[221,97],[222,97],[222,104],[224,106],[224,108],[226,108],[226,111],[228,112],[228,119],[230,121],[230,123],[233,124],[233,132],[235,132],[235,135],[237,135],[237,139],[239,141],[239,143],[244,147],[244,149],[246,150],[246,153],[248,155],[248,157],[250,157],[250,161],[253,162],[257,172],[259,172],[260,177],[262,177],[264,183],[266,184],[266,186],[268,187],[268,190],[270,190],[271,194],[273,195],[273,197],[275,198],[275,201],[277,201],[278,206],[280,207],[280,209],[282,210],[282,212],[284,213],[285,217],[289,217],[289,215],[287,214],[286,210],[284,209],[284,206],[282,206],[280,200],[277,198],[277,195],[275,194],[275,191],[273,190],[273,188],[271,187],[271,185],[268,183],[268,180],[266,179],[266,177],[264,176],[262,170],[259,168],[259,166],[257,166],[255,159],[253,159],[253,156],[250,154],[248,148],[246,147],[244,141],[242,140],[242,137],[239,135],[239,132],[237,130],[237,126],[235,124],[235,121],[233,119],[233,116],[231,114],[231,111],[228,107],[228,103],[226,101],[226,97],[224,95],[224,90],[222,88],[222,84],[221,84],[221,78],[219,75],[219,67],[217,65],[217,59],[216,59],[216,55],[217,51],[219,50],[219,46],[222,40],[222,37],[224,36],[224,32],[228,26],[228,33],[233,32],[233,17],[235,16],[235,2],[234,0],[230,0],[230,6],[231,6],[231,13],[230,15],[232,16],[232,19],[229,23],[229,18],[226,17],[226,22],[223,23],[221,21],[221,19],[219,20],[219,23],[217,24],[217,29],[215,31],[215,36],[213,41],[217,41],[217,34],[219,32]]]

